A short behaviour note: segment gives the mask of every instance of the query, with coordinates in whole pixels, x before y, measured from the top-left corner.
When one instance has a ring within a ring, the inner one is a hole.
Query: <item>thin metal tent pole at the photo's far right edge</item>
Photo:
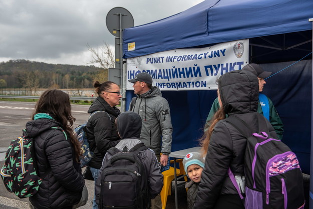
[[[313,18],[308,20],[309,22],[312,22],[312,39],[313,39]],[[313,42],[312,42],[312,49],[313,49]],[[313,53],[312,53],[312,61],[313,61]],[[312,110],[312,104],[313,104],[313,63],[312,63],[312,76],[311,76],[311,150],[310,150],[310,181],[309,181],[309,208],[313,209],[313,110]]]

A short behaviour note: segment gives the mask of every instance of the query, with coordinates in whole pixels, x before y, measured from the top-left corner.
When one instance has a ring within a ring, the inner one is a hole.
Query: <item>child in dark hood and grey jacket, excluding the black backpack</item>
[[[120,114],[116,119],[116,126],[119,135],[122,140],[116,145],[121,151],[127,152],[132,149],[135,145],[141,143],[139,140],[141,133],[141,124],[142,120],[140,116],[135,112],[124,112]],[[155,198],[162,190],[163,187],[163,175],[158,165],[158,160],[155,156],[155,153],[151,149],[145,149],[144,151],[139,152],[139,158],[141,159],[143,166],[146,170],[147,180],[148,180],[148,189],[150,194],[150,199]],[[106,164],[111,159],[112,155],[108,152],[105,155],[105,158],[102,163],[102,167],[99,172],[99,177],[96,182],[96,200],[99,204],[100,191],[101,191],[101,177],[103,174],[103,169],[106,167]],[[109,196],[109,194],[105,194]],[[122,202],[123,198],[120,196],[114,196],[109,198],[116,198],[118,202]],[[113,200],[110,200],[113,201]]]

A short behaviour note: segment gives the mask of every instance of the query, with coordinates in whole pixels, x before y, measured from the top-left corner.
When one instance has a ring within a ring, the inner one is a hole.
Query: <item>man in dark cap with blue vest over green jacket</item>
[[[261,92],[263,91],[263,87],[266,84],[265,78],[271,75],[271,72],[264,71],[259,65],[250,63],[242,68],[243,71],[252,72],[258,78],[259,83],[259,102],[257,107],[257,112],[263,114],[263,116],[271,123],[274,127],[278,139],[282,139],[283,134],[283,124],[282,121],[273,105],[273,102]],[[219,104],[217,98],[214,100],[209,115],[206,119],[204,131],[206,131],[210,127],[210,120],[212,119],[214,113],[219,109]]]

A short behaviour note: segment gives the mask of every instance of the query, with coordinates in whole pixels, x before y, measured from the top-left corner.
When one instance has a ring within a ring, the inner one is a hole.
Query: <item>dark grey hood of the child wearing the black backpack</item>
[[[139,138],[142,120],[138,113],[123,112],[116,118],[117,131],[122,139]]]

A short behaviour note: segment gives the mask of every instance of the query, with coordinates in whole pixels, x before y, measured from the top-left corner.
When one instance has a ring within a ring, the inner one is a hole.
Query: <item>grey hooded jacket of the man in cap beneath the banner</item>
[[[156,154],[170,154],[173,132],[170,107],[160,89],[154,86],[148,92],[137,95],[136,100],[130,103],[129,111],[138,113],[142,119],[140,141]]]

